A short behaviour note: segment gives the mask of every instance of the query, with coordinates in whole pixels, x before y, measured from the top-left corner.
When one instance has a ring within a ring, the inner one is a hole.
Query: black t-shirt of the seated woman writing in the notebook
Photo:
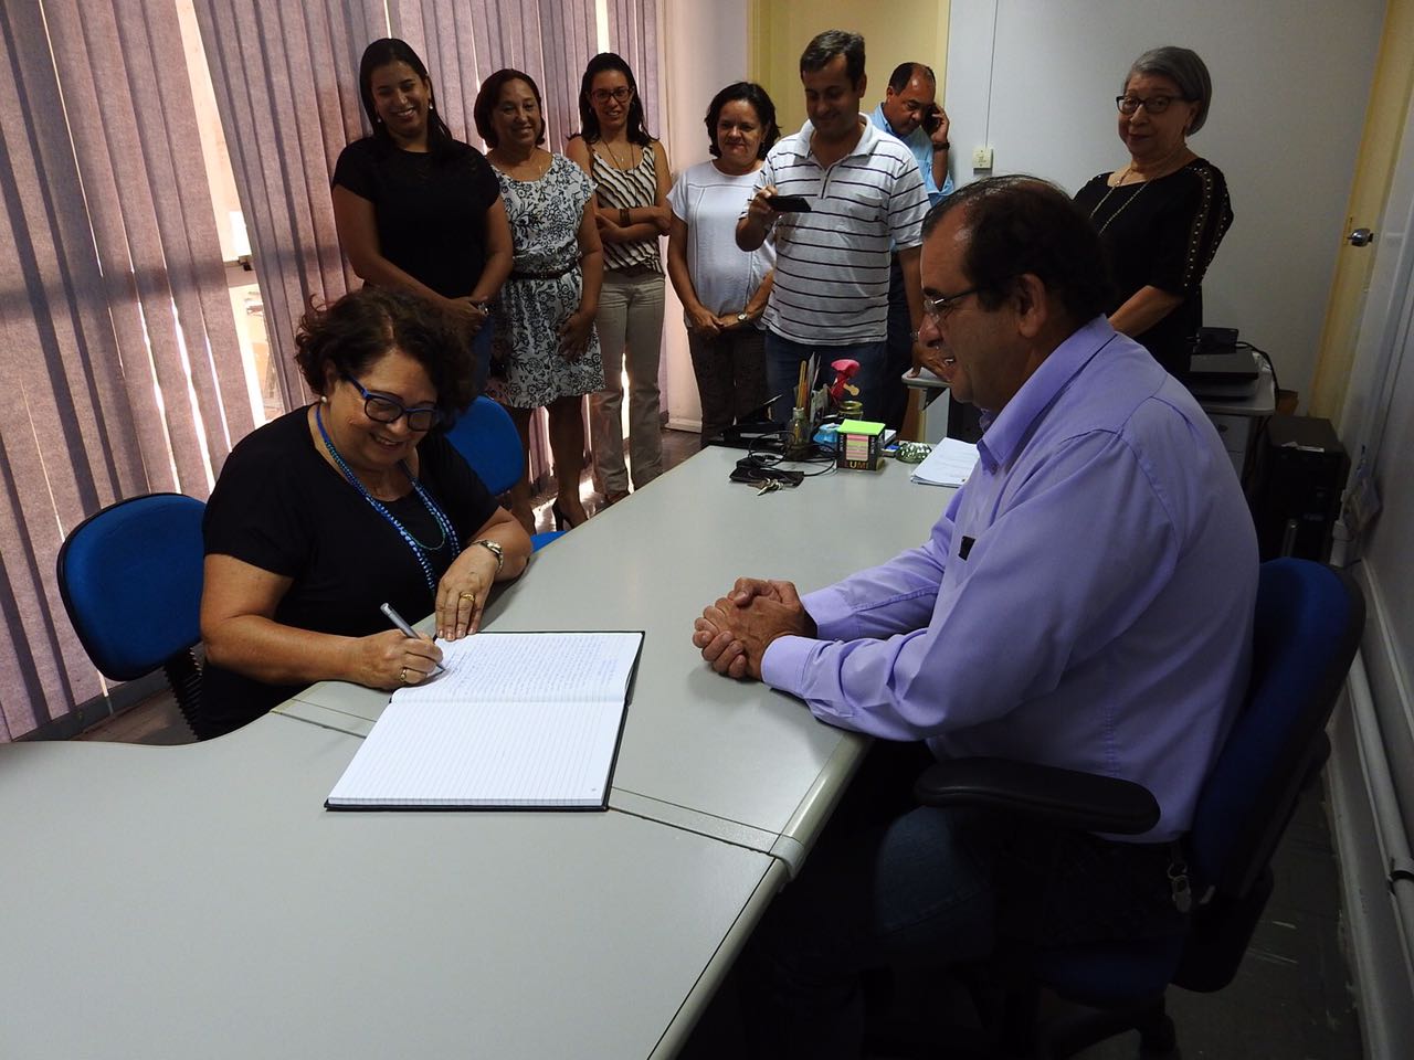
[[[423,438],[417,457],[419,482],[465,547],[495,514],[495,499],[444,437]],[[437,520],[416,492],[385,507],[430,547],[436,582],[452,561]],[[383,602],[409,622],[431,613],[436,603],[407,541],[320,455],[307,408],[260,427],[230,451],[202,530],[208,555],[232,555],[294,579],[274,615],[287,626],[368,636],[389,629],[379,611]],[[263,684],[208,663],[201,714],[212,731],[198,735],[239,728],[300,688]]]

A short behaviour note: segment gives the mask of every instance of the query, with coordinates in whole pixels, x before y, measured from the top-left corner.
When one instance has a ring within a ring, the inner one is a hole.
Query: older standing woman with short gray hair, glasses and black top
[[[1188,146],[1213,83],[1189,48],[1140,55],[1116,98],[1130,161],[1075,196],[1110,256],[1110,324],[1179,375],[1203,324],[1202,280],[1233,222],[1222,171]]]

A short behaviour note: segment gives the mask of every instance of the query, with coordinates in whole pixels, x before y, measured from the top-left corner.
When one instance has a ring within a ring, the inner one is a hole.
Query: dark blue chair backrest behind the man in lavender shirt
[[[1261,565],[1247,701],[1193,813],[1199,886],[1241,899],[1267,871],[1325,762],[1325,725],[1363,629],[1365,596],[1346,572],[1290,557]]]

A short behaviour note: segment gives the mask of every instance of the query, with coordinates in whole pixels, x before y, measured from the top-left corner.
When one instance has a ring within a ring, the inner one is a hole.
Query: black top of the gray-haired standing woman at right
[[[1195,158],[1167,177],[1123,188],[1110,188],[1102,172],[1075,201],[1100,229],[1110,260],[1116,300],[1109,312],[1141,287],[1182,295],[1172,312],[1134,336],[1165,369],[1181,373],[1203,324],[1203,273],[1233,223],[1222,171]]]

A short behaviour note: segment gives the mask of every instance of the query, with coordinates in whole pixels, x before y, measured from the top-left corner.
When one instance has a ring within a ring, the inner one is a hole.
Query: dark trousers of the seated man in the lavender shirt
[[[921,807],[922,743],[878,742],[740,964],[758,1056],[858,1057],[860,974],[977,961],[1000,938],[1063,946],[1182,930],[1169,848]]]

